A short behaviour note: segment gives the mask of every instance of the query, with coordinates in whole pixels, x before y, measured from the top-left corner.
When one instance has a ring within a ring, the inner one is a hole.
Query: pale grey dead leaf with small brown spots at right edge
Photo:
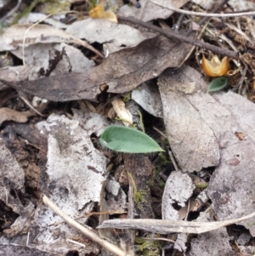
[[[221,150],[221,162],[212,175],[207,195],[219,220],[234,219],[252,213],[255,208],[255,105],[231,92],[213,97],[231,111],[238,126]],[[254,220],[241,222],[252,236]]]

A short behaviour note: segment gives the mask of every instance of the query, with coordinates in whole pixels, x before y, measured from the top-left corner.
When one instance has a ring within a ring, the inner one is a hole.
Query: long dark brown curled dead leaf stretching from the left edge
[[[94,99],[100,92],[100,84],[106,83],[111,93],[131,91],[142,82],[158,77],[167,67],[178,66],[189,50],[189,44],[166,37],[154,37],[136,47],[111,54],[90,71],[16,84],[1,79],[0,82],[47,100]]]

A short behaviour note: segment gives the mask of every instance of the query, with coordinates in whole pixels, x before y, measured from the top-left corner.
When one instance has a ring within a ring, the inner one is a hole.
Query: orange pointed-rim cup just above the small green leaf
[[[217,55],[211,61],[203,57],[202,69],[209,77],[223,77],[229,71],[229,57],[224,57],[222,61]]]

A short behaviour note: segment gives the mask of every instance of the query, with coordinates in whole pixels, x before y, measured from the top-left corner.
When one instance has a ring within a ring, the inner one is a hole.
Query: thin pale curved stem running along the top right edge
[[[150,2],[152,2],[152,3],[161,7],[161,5],[159,3],[156,3],[153,0],[150,0]],[[169,10],[174,11],[174,12],[179,13],[179,14],[188,14],[188,15],[195,15],[195,16],[202,16],[202,17],[230,18],[230,17],[255,15],[255,11],[243,12],[243,13],[231,13],[231,14],[207,14],[207,13],[198,13],[198,12],[187,11],[187,10],[178,9],[178,8],[175,8],[175,7],[168,7],[168,6],[164,6],[164,8],[169,9]]]

